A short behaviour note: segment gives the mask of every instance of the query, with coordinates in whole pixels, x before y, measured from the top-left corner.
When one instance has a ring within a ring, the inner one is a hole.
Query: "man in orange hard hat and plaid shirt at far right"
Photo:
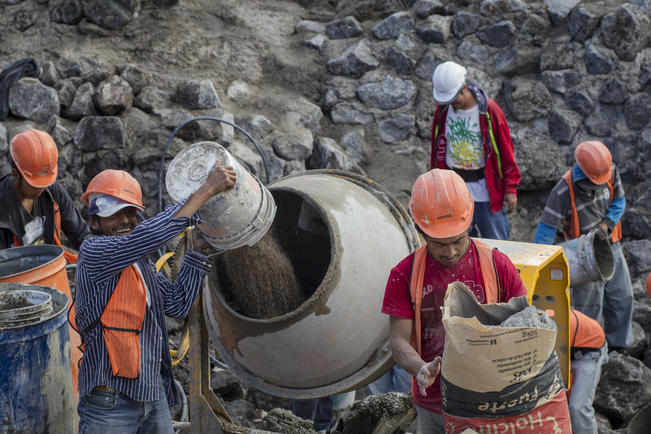
[[[574,166],[547,197],[534,242],[552,244],[596,231],[610,239],[615,259],[614,276],[608,282],[574,285],[570,299],[575,309],[602,320],[611,350],[624,351],[633,342],[633,285],[622,252],[621,218],[626,198],[612,155],[601,142],[580,143]]]

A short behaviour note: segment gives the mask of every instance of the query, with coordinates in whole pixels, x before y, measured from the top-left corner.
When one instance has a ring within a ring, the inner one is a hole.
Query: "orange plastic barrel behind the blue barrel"
[[[23,246],[0,250],[0,283],[31,283],[49,286],[63,292],[72,300],[66,274],[63,248],[49,244]],[[70,362],[75,402],[79,399],[77,371],[82,352],[81,337],[68,324],[70,338]]]

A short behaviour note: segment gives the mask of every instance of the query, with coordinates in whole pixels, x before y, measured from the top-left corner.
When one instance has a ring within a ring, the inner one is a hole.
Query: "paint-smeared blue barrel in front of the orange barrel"
[[[74,432],[69,298],[46,286],[19,283],[0,283],[0,294],[0,313],[7,319],[0,324],[0,431]],[[38,314],[39,305],[48,303],[50,312]],[[25,308],[32,308],[31,318]]]

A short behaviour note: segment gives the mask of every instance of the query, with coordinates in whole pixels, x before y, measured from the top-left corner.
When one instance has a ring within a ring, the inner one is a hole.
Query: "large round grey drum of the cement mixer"
[[[275,396],[317,398],[374,381],[394,364],[380,313],[389,272],[420,245],[409,215],[375,182],[339,170],[292,175],[269,190],[275,229],[314,292],[291,312],[253,319],[231,308],[213,275],[204,313],[217,352]]]

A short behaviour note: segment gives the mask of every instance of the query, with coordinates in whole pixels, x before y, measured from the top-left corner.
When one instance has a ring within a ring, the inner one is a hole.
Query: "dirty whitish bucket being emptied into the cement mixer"
[[[218,250],[252,246],[267,232],[276,213],[271,193],[223,146],[197,142],[174,157],[165,176],[167,192],[176,202],[190,196],[206,180],[213,165],[232,166],[235,187],[220,193],[199,210],[206,222],[197,228]]]

